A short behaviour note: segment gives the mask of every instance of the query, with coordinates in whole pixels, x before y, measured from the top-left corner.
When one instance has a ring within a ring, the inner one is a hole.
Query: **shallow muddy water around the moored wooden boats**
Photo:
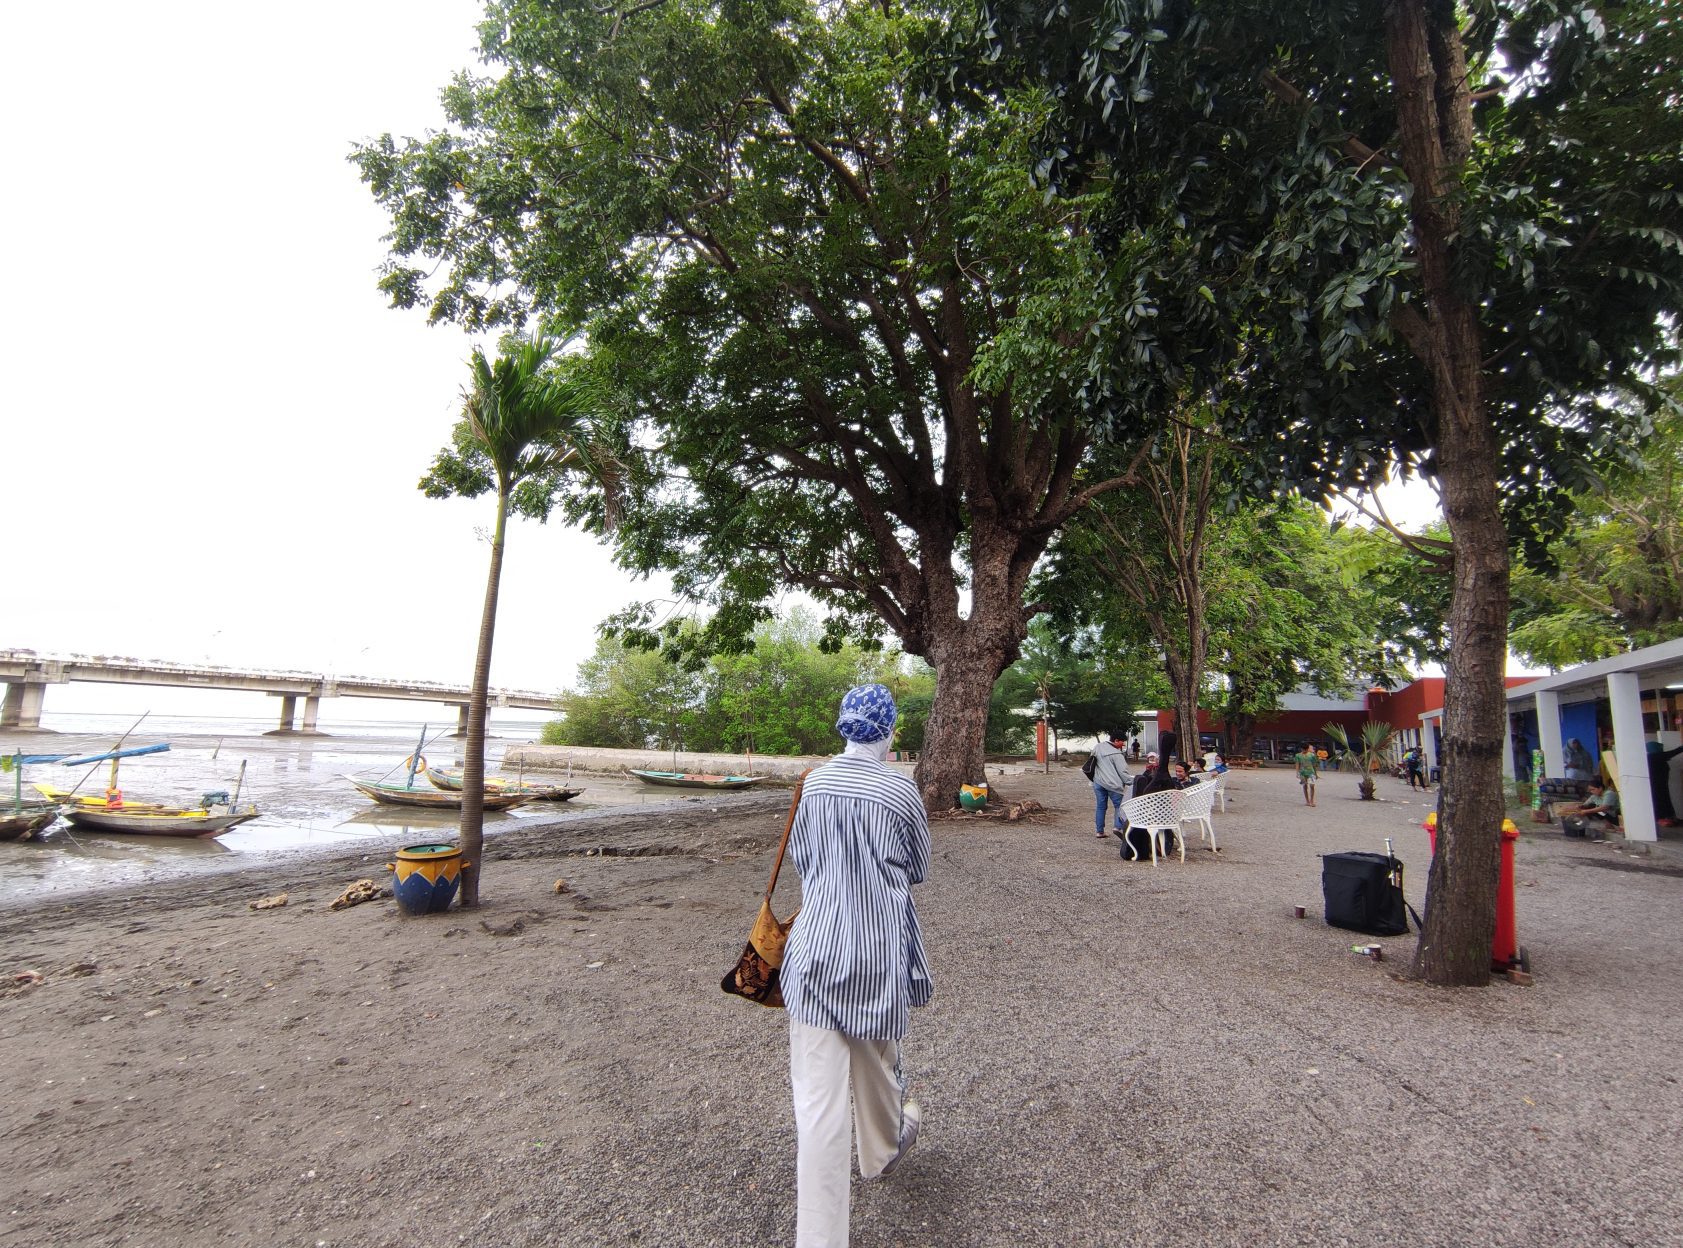
[[[126,725],[125,725],[126,727]],[[215,725],[217,735],[195,735],[202,723],[173,725],[180,732],[136,732],[125,748],[170,742],[167,754],[125,759],[119,764],[119,787],[130,801],[197,804],[207,791],[229,794],[241,784],[239,801],[256,802],[261,816],[215,838],[163,838],[89,834],[71,829],[62,819],[40,841],[0,843],[0,907],[22,896],[44,893],[77,893],[89,888],[138,886],[148,881],[219,871],[234,866],[274,861],[276,888],[284,886],[281,866],[291,854],[367,844],[370,853],[421,841],[453,839],[454,811],[406,811],[377,806],[358,794],[343,777],[402,779],[404,759],[419,735],[401,725],[360,725],[365,735],[332,737],[264,737],[229,733],[227,723]],[[172,727],[172,725],[160,725]],[[261,732],[261,730],[259,730]],[[496,772],[496,760],[508,745],[530,740],[530,733],[493,737],[486,742],[486,770]],[[98,754],[111,748],[114,735],[82,732],[0,733],[0,754]],[[461,742],[443,737],[426,747],[434,765],[459,767]],[[24,792],[30,785],[50,784],[79,792],[104,792],[109,764],[67,769],[62,764],[35,764],[25,769]],[[552,782],[555,772],[528,772],[530,779]],[[3,775],[3,797],[12,796],[15,775]],[[416,784],[429,787],[424,777]],[[648,789],[619,777],[581,775],[574,787],[584,792],[571,802],[530,802],[515,811],[486,811],[485,833],[518,828],[522,822],[565,819],[604,807],[656,806],[680,801],[678,789]]]

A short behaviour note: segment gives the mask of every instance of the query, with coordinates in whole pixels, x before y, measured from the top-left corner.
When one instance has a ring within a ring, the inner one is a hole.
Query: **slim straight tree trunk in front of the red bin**
[[[1385,22],[1426,296],[1399,328],[1431,378],[1437,478],[1454,543],[1437,854],[1414,972],[1432,984],[1481,986],[1491,970],[1505,814],[1508,533],[1496,484],[1500,447],[1484,410],[1478,309],[1454,278],[1456,195],[1473,111],[1456,8],[1390,0]]]

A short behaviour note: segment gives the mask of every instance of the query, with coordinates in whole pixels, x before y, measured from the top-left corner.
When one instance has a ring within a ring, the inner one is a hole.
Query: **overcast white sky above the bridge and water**
[[[476,0],[8,5],[0,648],[466,681],[490,501],[429,501],[468,340],[385,306],[345,156],[441,121]],[[515,525],[493,685],[638,585]]]

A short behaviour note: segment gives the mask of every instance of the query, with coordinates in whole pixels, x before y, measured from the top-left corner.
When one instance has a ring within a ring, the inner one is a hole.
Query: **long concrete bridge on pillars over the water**
[[[168,685],[182,690],[244,690],[268,693],[281,700],[281,727],[276,733],[316,733],[321,698],[399,698],[436,701],[456,708],[456,735],[468,732],[466,685],[436,681],[374,680],[370,676],[318,676],[308,671],[241,671],[195,663],[160,663],[153,659],[108,658],[88,654],[37,654],[32,649],[0,649],[0,728],[40,728],[40,708],[49,685],[93,681],[99,685]],[[303,725],[296,723],[303,700]],[[491,706],[552,710],[554,693],[530,690],[491,690]]]

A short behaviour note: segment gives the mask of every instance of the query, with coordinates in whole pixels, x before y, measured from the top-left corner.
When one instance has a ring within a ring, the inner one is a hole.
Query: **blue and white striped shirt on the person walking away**
[[[912,885],[929,870],[917,787],[873,759],[842,755],[806,777],[789,834],[801,913],[783,950],[789,1018],[855,1039],[899,1039],[934,984]]]

